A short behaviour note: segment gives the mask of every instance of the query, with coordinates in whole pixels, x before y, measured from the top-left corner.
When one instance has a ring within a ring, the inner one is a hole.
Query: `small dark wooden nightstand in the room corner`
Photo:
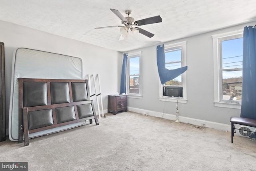
[[[108,113],[115,115],[118,111],[127,111],[127,96],[108,95]]]

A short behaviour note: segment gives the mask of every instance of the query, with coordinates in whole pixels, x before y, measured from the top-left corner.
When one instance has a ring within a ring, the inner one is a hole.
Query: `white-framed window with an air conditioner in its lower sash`
[[[165,51],[165,68],[174,70],[186,66],[186,41],[164,46]],[[163,86],[180,86],[183,87],[183,97],[168,97],[163,95]],[[180,103],[186,103],[186,72],[180,76],[166,82],[160,83],[159,99],[162,101],[174,101],[177,99]]]

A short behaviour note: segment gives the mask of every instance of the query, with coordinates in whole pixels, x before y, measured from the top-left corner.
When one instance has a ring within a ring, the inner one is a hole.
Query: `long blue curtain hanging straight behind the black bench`
[[[256,119],[256,28],[246,26],[243,39],[241,117]]]

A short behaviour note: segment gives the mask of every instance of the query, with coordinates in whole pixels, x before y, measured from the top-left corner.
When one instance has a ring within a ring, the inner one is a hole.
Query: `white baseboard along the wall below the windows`
[[[162,117],[164,119],[170,119],[175,121],[176,120],[176,115],[168,114],[168,113],[161,113],[161,112],[156,112],[156,111],[150,111],[150,110],[145,110],[145,109],[138,109],[134,107],[128,107],[128,111],[136,112],[136,113],[141,113],[143,115],[150,115],[154,117]],[[190,123],[192,125],[199,125],[201,126],[201,123],[205,123],[205,127],[208,128],[213,128],[213,129],[218,129],[221,131],[226,131],[226,132],[231,132],[231,124],[223,124],[223,123],[218,123],[218,122],[212,122],[212,121],[205,121],[201,119],[194,119],[190,117],[184,117],[184,116],[179,116],[179,121],[183,123]]]

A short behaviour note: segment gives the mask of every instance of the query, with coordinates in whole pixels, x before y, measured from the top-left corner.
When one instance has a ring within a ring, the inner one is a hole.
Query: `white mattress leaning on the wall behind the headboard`
[[[82,79],[80,58],[17,48],[12,58],[12,80],[9,110],[9,139],[18,141],[18,78]],[[29,134],[38,137],[83,125],[85,121]]]

